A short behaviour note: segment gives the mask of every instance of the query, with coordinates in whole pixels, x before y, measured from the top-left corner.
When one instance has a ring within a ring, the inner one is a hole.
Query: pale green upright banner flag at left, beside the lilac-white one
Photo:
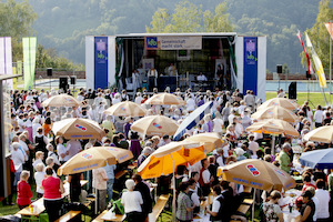
[[[33,88],[34,71],[36,71],[36,50],[37,38],[24,37],[23,42],[23,72],[24,72],[24,89],[31,90]]]

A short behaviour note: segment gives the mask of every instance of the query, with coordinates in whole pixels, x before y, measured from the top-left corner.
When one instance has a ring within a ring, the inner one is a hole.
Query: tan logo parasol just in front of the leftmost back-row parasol
[[[62,135],[65,139],[100,139],[105,134],[98,122],[81,118],[54,122],[52,131],[56,135]]]

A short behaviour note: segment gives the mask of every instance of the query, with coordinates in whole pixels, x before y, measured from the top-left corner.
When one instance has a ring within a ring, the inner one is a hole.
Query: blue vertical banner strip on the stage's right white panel
[[[253,90],[258,94],[258,38],[244,37],[243,93]]]

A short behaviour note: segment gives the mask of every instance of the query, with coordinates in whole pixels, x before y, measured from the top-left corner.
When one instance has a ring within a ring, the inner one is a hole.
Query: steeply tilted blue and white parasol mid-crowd
[[[212,107],[212,101],[206,102],[191,112],[179,125],[176,132],[173,135],[173,140],[178,141],[186,132],[186,130],[191,130],[192,128],[194,128],[205,114],[210,113]]]

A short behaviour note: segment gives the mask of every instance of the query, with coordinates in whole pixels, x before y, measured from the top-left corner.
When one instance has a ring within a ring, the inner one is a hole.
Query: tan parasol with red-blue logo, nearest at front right
[[[218,176],[225,181],[243,184],[254,189],[270,191],[289,190],[296,185],[295,180],[281,170],[263,160],[246,159],[218,169]]]

